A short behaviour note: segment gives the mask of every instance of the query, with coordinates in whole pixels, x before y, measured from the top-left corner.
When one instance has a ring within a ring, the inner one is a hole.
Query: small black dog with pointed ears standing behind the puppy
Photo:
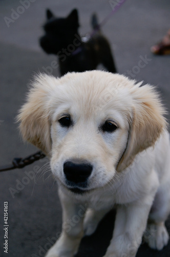
[[[93,35],[83,42],[78,33],[78,12],[76,9],[66,18],[56,18],[47,10],[45,35],[40,38],[40,46],[47,53],[59,58],[61,75],[68,71],[85,71],[96,69],[103,64],[110,72],[116,72],[111,48],[107,39],[101,34],[97,17],[92,16]]]

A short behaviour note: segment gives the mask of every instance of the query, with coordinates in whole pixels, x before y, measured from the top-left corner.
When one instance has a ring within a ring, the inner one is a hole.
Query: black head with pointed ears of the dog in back
[[[45,35],[40,38],[39,43],[45,52],[58,54],[62,48],[67,48],[74,42],[79,27],[78,13],[74,9],[66,18],[57,18],[48,9],[46,15]]]

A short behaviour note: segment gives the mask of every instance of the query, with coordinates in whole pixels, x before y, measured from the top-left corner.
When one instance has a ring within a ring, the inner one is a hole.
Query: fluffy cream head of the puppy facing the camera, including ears
[[[114,182],[153,146],[166,121],[155,89],[104,71],[39,75],[18,121],[25,140],[51,158],[60,185],[87,192]]]

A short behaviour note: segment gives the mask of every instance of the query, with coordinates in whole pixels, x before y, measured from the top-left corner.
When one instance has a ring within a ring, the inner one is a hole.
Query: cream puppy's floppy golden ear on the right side
[[[129,118],[129,139],[118,163],[118,172],[130,166],[138,153],[154,146],[167,125],[163,117],[166,111],[155,88],[139,85],[140,83],[131,89],[133,109]]]

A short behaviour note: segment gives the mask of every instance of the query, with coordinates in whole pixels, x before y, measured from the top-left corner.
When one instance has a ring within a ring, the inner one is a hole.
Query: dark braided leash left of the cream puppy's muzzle
[[[4,165],[0,167],[0,172],[1,171],[9,171],[9,170],[14,170],[14,169],[22,169],[25,166],[33,163],[36,160],[42,159],[46,157],[45,154],[43,154],[41,151],[36,152],[35,154],[29,155],[26,158],[14,158],[12,160],[12,163],[9,165]]]

